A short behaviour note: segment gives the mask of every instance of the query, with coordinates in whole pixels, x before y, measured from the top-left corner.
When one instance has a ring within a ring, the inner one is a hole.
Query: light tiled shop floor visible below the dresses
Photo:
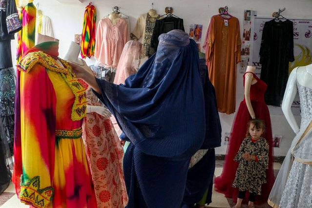
[[[224,161],[216,161],[216,168],[214,171],[214,176],[219,176],[222,172]],[[274,175],[276,177],[278,170],[280,169],[280,163],[274,163]],[[212,193],[212,203],[208,206],[209,208],[230,208],[235,205],[232,199],[225,198],[223,194],[213,191]],[[248,206],[243,205],[242,208],[247,208]],[[256,208],[270,208],[268,204],[261,206],[255,206]],[[28,206],[19,202],[14,186],[11,183],[10,186],[0,195],[0,208],[28,208]]]

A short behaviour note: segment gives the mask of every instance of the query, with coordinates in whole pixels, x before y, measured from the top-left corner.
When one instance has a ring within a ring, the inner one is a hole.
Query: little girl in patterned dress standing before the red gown
[[[248,124],[246,138],[240,146],[234,160],[239,163],[233,187],[239,189],[237,203],[233,208],[240,208],[249,191],[248,207],[253,208],[256,195],[260,195],[261,186],[267,183],[266,169],[269,164],[269,144],[261,137],[265,130],[261,119],[252,119]]]

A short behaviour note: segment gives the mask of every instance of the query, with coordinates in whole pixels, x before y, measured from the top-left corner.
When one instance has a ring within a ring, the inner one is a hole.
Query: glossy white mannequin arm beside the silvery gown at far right
[[[292,130],[295,133],[298,133],[300,129],[291,111],[291,104],[297,94],[296,72],[297,72],[297,68],[293,69],[291,71],[291,75],[288,78],[288,82],[287,82],[287,86],[286,86],[286,90],[285,90],[285,94],[283,98],[283,103],[282,103],[282,110]]]

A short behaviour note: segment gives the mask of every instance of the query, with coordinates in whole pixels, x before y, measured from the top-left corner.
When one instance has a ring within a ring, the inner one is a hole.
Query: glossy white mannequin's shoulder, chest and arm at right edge
[[[299,66],[291,71],[283,98],[283,113],[296,134],[299,132],[300,128],[291,111],[291,104],[297,94],[297,82],[302,86],[312,89],[312,64]]]

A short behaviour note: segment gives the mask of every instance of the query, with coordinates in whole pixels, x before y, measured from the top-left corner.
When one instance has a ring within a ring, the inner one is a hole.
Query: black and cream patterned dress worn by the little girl
[[[256,155],[258,162],[254,160],[247,161],[242,158],[242,154],[245,152]],[[266,139],[260,137],[256,142],[252,142],[251,137],[246,137],[234,160],[239,165],[233,187],[237,187],[240,191],[248,190],[260,195],[261,185],[267,183],[266,169],[269,165],[269,144]]]

